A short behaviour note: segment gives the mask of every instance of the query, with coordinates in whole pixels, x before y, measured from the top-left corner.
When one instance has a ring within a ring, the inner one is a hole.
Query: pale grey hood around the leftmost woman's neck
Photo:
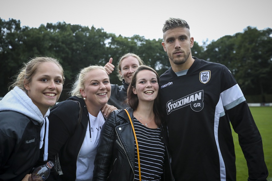
[[[20,112],[42,124],[44,117],[48,116],[50,110],[43,116],[39,108],[32,102],[28,95],[19,87],[14,87],[0,101],[0,111]]]

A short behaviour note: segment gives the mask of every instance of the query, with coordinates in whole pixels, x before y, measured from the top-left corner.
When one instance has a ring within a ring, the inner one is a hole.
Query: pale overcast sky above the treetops
[[[199,44],[243,32],[247,26],[272,28],[272,0],[0,0],[0,18],[21,26],[66,22],[104,28],[107,33],[162,38],[164,21],[182,18]]]

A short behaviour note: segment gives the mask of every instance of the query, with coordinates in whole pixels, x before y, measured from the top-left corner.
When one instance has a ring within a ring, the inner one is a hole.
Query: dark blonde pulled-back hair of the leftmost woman
[[[31,82],[37,68],[40,66],[41,63],[44,62],[56,63],[56,65],[60,67],[63,79],[62,84],[64,84],[64,71],[57,59],[54,59],[52,57],[33,57],[27,63],[24,63],[24,66],[20,69],[20,72],[15,75],[16,79],[15,81],[11,82],[8,90],[11,90],[15,86],[18,86],[20,89],[24,90],[27,93],[28,91],[25,89],[24,85]]]

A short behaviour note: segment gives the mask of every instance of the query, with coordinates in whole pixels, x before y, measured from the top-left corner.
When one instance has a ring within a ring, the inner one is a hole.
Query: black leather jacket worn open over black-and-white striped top
[[[132,108],[127,110],[133,122],[133,110]],[[163,126],[160,128],[161,138],[166,148],[162,181],[173,181],[167,151],[167,130]],[[122,148],[117,144],[121,144]],[[134,149],[134,134],[127,113],[125,110],[113,111],[101,129],[92,180],[133,181]]]

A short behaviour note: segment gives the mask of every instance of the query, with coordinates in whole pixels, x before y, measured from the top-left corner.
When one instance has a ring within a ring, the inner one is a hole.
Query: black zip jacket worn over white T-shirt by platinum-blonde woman
[[[79,105],[71,100],[79,101],[82,107],[82,118],[79,125]],[[55,156],[58,154],[63,172],[63,175],[58,175],[53,166],[48,180],[75,180],[76,162],[89,122],[86,104],[82,98],[72,96],[51,108],[48,119],[50,120],[48,160],[55,161]]]

